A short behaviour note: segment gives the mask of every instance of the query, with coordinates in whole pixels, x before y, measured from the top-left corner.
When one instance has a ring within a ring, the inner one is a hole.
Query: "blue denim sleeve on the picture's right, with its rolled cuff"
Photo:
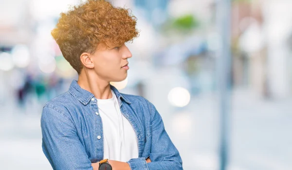
[[[150,163],[145,158],[128,161],[131,170],[183,170],[182,158],[164,129],[161,115],[149,102],[151,113],[151,151]]]

